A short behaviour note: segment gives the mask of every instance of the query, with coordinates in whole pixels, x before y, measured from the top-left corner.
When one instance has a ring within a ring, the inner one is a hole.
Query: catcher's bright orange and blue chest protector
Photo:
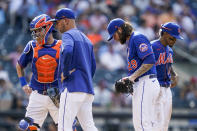
[[[61,41],[53,47],[45,48],[36,46],[33,48],[33,67],[35,79],[40,83],[52,83],[57,79]]]

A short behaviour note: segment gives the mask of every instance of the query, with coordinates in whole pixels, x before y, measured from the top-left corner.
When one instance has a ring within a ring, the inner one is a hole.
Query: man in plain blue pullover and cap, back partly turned
[[[71,131],[76,116],[84,131],[97,131],[92,116],[92,77],[96,70],[93,45],[76,28],[71,9],[58,10],[53,21],[62,33],[58,72],[61,92],[58,131]]]

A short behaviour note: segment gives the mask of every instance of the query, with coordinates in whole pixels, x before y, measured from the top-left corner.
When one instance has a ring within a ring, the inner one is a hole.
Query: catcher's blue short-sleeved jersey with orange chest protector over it
[[[55,60],[54,63],[57,65],[59,64],[59,58],[56,59],[55,57],[56,57],[56,55],[59,55],[58,52],[60,51],[60,45],[59,45],[59,49],[57,49],[57,50],[53,48],[53,47],[57,47],[58,43],[59,42],[57,40],[55,40],[54,43],[51,45],[36,46],[35,41],[29,41],[28,44],[26,45],[23,53],[21,54],[21,56],[18,60],[18,64],[22,68],[25,68],[29,63],[31,63],[32,77],[31,77],[31,81],[30,81],[29,86],[33,90],[44,91],[49,87],[58,87],[58,81],[57,81],[58,66],[56,66],[57,68],[52,69],[52,70],[54,70],[54,73],[52,73],[53,76],[51,77],[52,78],[51,81],[49,79],[46,79],[46,81],[44,81],[43,79],[41,79],[42,77],[39,77],[38,74],[40,74],[40,71],[38,71],[39,66],[37,66],[37,65],[42,66],[42,63],[43,63],[44,66],[41,69],[41,71],[45,71],[45,70],[46,70],[46,72],[52,71],[50,66],[49,66],[49,68],[47,68],[47,64],[48,65],[51,64],[51,61],[45,62],[45,61],[41,60],[41,59],[43,59],[43,56],[45,56],[45,57],[49,56],[51,58],[54,58],[54,60]],[[47,61],[49,60],[48,57],[46,59],[47,59]],[[53,60],[53,59],[50,59],[50,60]],[[45,73],[45,74],[47,74],[47,73]],[[50,75],[50,74],[47,74],[47,75]],[[44,79],[45,78],[49,78],[49,76],[44,77]],[[49,81],[47,82],[47,80],[49,80]]]

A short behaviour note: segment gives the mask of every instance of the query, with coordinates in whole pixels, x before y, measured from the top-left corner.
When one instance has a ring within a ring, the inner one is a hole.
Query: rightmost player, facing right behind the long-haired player
[[[180,26],[169,22],[161,26],[160,38],[151,42],[155,54],[157,79],[161,86],[158,103],[161,104],[160,119],[162,131],[168,130],[172,113],[172,93],[170,87],[177,84],[177,74],[172,68],[173,50],[171,47],[176,39],[183,39],[180,36]]]

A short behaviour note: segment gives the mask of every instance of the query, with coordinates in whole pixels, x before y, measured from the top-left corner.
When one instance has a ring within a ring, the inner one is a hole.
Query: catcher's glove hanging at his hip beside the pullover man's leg
[[[60,103],[60,94],[59,94],[59,89],[58,88],[48,88],[47,89],[47,94],[55,104],[57,108],[59,108],[59,103]]]

